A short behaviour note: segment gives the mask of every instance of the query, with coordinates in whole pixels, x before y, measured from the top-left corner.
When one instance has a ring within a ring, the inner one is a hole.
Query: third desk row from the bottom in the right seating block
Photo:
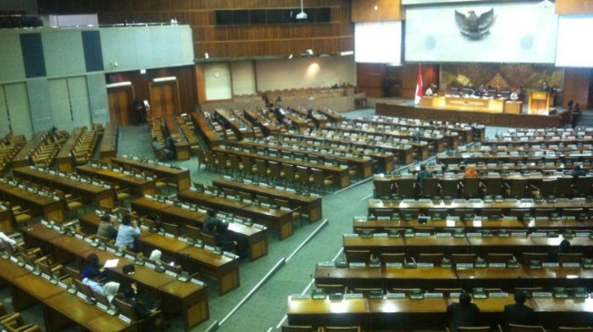
[[[485,237],[469,233],[462,236],[421,236],[419,230],[415,237],[354,237],[354,235],[343,236],[344,250],[369,250],[370,253],[378,256],[380,253],[407,253],[410,257],[416,257],[419,253],[444,253],[450,256],[452,253],[476,253],[486,258],[487,253],[513,253],[521,260],[523,253],[551,253],[557,250],[560,242],[565,237],[535,237],[528,235],[521,230],[513,229],[510,235],[518,233],[518,236],[501,237],[498,235]],[[593,247],[593,239],[587,233],[586,237],[568,237],[571,242],[572,253],[583,253],[589,257]]]

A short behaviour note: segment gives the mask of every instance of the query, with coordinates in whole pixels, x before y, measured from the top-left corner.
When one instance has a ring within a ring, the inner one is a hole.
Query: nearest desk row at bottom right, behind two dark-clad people
[[[314,327],[360,326],[363,330],[443,330],[446,307],[456,298],[405,298],[313,300],[288,298],[288,324]],[[504,306],[513,295],[473,299],[480,309],[479,324],[496,326],[504,322]],[[538,322],[546,328],[591,326],[593,299],[538,297],[528,300]]]

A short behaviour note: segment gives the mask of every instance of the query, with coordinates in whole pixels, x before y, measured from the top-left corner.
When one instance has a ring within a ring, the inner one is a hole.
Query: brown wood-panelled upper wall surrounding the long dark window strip
[[[190,24],[196,58],[317,54],[352,51],[354,29],[350,0],[305,0],[306,7],[330,7],[323,24],[216,27],[218,9],[300,7],[300,0],[39,0],[40,12],[97,12],[101,24],[168,22]]]

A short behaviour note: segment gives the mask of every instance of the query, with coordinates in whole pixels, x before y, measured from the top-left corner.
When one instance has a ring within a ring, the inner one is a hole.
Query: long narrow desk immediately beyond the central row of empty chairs
[[[324,164],[318,164],[314,162],[299,162],[292,159],[274,157],[271,155],[264,155],[264,154],[251,154],[251,153],[244,153],[241,151],[233,150],[230,148],[223,148],[221,146],[215,147],[213,151],[216,154],[234,154],[239,157],[246,156],[253,159],[262,159],[271,162],[279,162],[281,164],[291,164],[295,166],[302,166],[309,169],[318,169],[323,170],[324,177],[332,176],[334,179],[335,187],[345,188],[350,185],[350,174],[348,173],[348,168],[341,168],[335,166],[326,166]]]

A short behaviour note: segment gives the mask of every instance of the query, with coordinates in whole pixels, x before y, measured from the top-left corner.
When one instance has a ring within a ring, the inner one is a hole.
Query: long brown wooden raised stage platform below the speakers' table
[[[559,128],[564,127],[571,120],[571,113],[562,108],[556,108],[557,112],[552,115],[528,115],[430,108],[414,105],[413,100],[406,100],[402,103],[377,103],[376,107],[377,115],[420,120],[470,122],[496,127]]]

